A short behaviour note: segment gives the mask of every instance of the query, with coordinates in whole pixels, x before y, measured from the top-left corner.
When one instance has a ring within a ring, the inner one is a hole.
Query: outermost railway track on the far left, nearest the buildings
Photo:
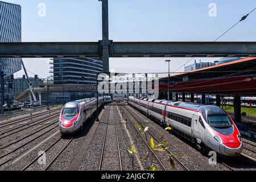
[[[59,111],[59,110],[60,110],[60,107],[58,107],[57,109],[53,109],[51,111],[45,111],[43,113],[34,114],[34,115],[32,115],[32,117],[30,115],[27,115],[26,117],[17,118],[17,119],[13,119],[11,121],[3,122],[3,123],[0,123],[0,125],[1,125],[0,129],[3,128],[3,127],[6,127],[6,126],[10,126],[10,125],[13,125],[13,124],[16,124],[16,123],[19,123],[19,122],[26,121],[28,119],[34,119],[34,118],[38,118],[40,116],[44,116],[46,113],[51,114],[52,112],[54,113],[54,111]]]

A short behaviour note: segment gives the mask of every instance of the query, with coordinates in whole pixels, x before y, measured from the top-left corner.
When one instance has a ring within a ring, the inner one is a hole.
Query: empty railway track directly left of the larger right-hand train
[[[123,109],[125,108],[125,109]],[[158,156],[155,154],[155,152],[152,150],[152,148],[149,146],[149,144],[147,143],[147,141],[143,138],[141,132],[137,129],[137,127],[134,125],[133,121],[131,120],[131,118],[127,115],[127,113],[125,112],[125,110],[137,121],[139,122],[143,127],[145,127],[143,125],[143,123],[141,121],[139,121],[139,119],[137,119],[137,117],[135,117],[135,115],[133,113],[131,113],[131,111],[129,111],[126,106],[121,106],[121,109],[123,111],[123,113],[126,115],[126,118],[130,121],[130,123],[133,125],[133,127],[135,128],[135,130],[137,130],[138,134],[141,136],[141,138],[143,139],[144,143],[146,144],[146,146],[148,147],[148,149],[151,151],[152,155],[155,157],[155,159],[158,161],[158,163],[160,164],[160,166],[163,168],[164,171],[166,171],[166,167],[164,167],[164,164],[160,161],[160,159],[158,158]],[[150,130],[147,130],[147,132],[157,141],[160,143],[160,140],[158,138],[155,137],[154,134],[151,133]],[[166,149],[166,151],[168,152],[168,154],[172,155],[172,157],[176,160],[177,163],[180,164],[180,166],[182,166],[186,171],[189,171],[189,169],[187,167],[185,167],[185,165],[176,158],[176,156],[174,156],[172,154],[172,152],[168,149]]]

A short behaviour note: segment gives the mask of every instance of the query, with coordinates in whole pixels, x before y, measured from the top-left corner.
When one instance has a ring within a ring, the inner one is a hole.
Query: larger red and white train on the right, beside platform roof
[[[138,97],[129,97],[128,103],[163,126],[171,126],[204,152],[214,150],[224,156],[238,156],[242,152],[240,132],[218,106]]]

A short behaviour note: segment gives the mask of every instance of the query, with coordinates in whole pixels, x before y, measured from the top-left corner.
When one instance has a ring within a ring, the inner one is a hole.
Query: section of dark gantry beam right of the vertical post
[[[254,57],[256,42],[114,42],[112,57]]]

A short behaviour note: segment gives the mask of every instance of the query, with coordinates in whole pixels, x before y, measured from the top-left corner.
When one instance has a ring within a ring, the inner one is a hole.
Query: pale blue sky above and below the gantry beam
[[[7,2],[22,6],[23,42],[90,42],[101,39],[101,2],[98,0]],[[38,16],[39,3],[46,5],[45,17]],[[208,14],[209,3],[217,6],[216,17]],[[114,41],[213,41],[255,7],[255,0],[109,0],[109,35]],[[256,11],[220,41],[256,41],[255,22]],[[172,58],[171,70],[187,60]],[[42,77],[49,76],[48,59],[24,59],[24,62],[30,71]],[[162,58],[110,59],[110,68],[117,72],[167,71]],[[22,75],[23,71],[16,74]]]

